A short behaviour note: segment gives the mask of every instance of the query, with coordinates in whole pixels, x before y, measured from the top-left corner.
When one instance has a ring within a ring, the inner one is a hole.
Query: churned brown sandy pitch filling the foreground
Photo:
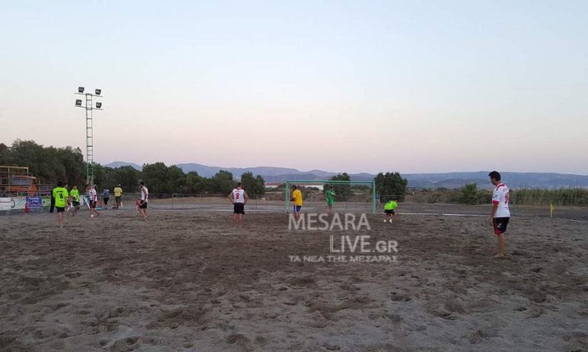
[[[150,216],[0,216],[0,351],[588,351],[585,222],[514,217],[497,260],[482,217]],[[396,261],[291,261],[341,235],[397,241]]]

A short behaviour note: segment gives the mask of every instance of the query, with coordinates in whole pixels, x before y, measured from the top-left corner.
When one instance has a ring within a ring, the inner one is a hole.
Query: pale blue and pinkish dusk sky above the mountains
[[[0,142],[95,161],[588,174],[588,1],[5,1]]]

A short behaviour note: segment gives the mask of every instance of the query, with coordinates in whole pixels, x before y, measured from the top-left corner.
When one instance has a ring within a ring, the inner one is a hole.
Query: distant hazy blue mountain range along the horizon
[[[106,164],[107,167],[131,166],[141,170],[142,166],[135,163],[115,161]],[[236,178],[245,172],[253,175],[263,176],[266,182],[279,183],[284,180],[325,180],[335,176],[337,172],[324,170],[299,171],[289,167],[218,167],[197,163],[177,164],[183,172],[198,172],[200,176],[214,176],[220,169],[231,172]],[[502,179],[511,188],[565,188],[585,187],[588,188],[588,175],[557,174],[553,172],[503,172]],[[371,181],[374,174],[350,174],[352,180]],[[459,188],[466,183],[477,183],[480,188],[490,188],[488,171],[479,172],[444,172],[432,174],[403,174],[407,178],[409,187],[414,188]]]

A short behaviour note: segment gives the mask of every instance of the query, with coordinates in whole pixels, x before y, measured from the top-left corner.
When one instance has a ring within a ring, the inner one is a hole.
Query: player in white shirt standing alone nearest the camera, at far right
[[[495,258],[504,257],[504,233],[510,220],[510,210],[508,210],[508,187],[500,180],[500,173],[497,171],[488,174],[490,182],[495,186],[492,191],[492,213],[490,214],[490,224],[494,226],[494,233],[498,237],[498,253]]]

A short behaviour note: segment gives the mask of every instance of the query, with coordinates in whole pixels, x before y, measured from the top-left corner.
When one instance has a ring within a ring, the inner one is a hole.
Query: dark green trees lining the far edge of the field
[[[34,176],[41,179],[41,183],[50,185],[61,180],[70,186],[82,187],[86,182],[84,156],[80,148],[45,147],[35,141],[16,139],[10,146],[0,143],[0,165],[27,166]],[[94,164],[94,183],[98,189],[113,189],[121,185],[125,192],[138,192],[139,181],[143,180],[150,193],[228,194],[236,187],[237,181],[234,178],[226,170],[220,170],[212,177],[204,177],[197,172],[185,173],[176,165],[168,166],[161,162],[144,164],[140,171],[131,166],[113,168]],[[350,176],[343,172],[332,176],[331,180],[350,180]],[[404,199],[407,180],[398,172],[381,172],[374,180],[381,201]],[[240,182],[251,198],[258,198],[265,193],[265,181],[260,175],[245,172],[240,175]],[[338,200],[346,200],[350,196],[350,185],[333,187]]]

